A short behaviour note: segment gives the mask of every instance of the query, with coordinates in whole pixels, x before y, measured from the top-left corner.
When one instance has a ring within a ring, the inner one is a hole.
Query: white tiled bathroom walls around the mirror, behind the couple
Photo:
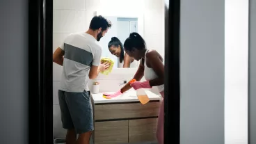
[[[108,0],[106,0],[108,1]],[[61,45],[61,42],[70,33],[86,31],[93,18],[95,11],[99,8],[100,0],[54,0],[54,28],[53,28],[53,50]],[[144,11],[144,33],[143,37],[147,47],[156,49],[164,54],[164,15],[163,0],[145,0]],[[136,3],[135,3],[136,4]],[[131,9],[132,10],[132,9]],[[58,88],[60,86],[62,67],[54,63],[53,86],[54,86],[54,138],[65,137],[65,129],[62,128],[61,111],[58,105]],[[100,91],[116,91],[121,88],[118,83],[129,81],[135,74],[134,69],[114,69],[111,74],[99,77],[93,81],[100,83]],[[143,78],[142,81],[145,79]],[[90,81],[89,88],[92,88]],[[110,84],[111,83],[111,84]],[[157,88],[152,92],[157,93]]]

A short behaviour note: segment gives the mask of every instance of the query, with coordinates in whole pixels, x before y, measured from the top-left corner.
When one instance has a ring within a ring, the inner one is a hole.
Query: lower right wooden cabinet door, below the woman
[[[129,120],[129,143],[156,141],[157,118]]]

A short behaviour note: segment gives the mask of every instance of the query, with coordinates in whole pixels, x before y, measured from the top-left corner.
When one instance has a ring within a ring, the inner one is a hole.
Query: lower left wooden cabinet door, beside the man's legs
[[[95,144],[128,143],[128,120],[95,122]]]

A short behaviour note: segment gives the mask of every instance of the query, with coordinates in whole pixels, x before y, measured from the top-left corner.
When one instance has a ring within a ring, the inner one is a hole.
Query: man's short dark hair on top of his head
[[[102,28],[102,31],[106,31],[106,29],[111,28],[111,22],[106,19],[105,17],[102,17],[102,15],[94,16],[93,19],[90,21],[90,29],[93,31]]]

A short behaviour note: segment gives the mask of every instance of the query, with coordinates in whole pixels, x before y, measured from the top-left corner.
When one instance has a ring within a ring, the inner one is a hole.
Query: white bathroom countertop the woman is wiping
[[[111,92],[108,92],[108,93],[111,93]],[[160,95],[156,95],[152,93],[150,90],[145,90],[145,93],[147,93],[147,96],[150,98],[150,100],[161,100]],[[112,102],[139,102],[138,97],[136,95],[136,90],[128,90],[122,95],[119,95],[118,97],[113,97],[111,99],[104,98],[103,93],[97,93],[97,94],[91,93],[90,95],[93,97],[95,104],[112,103]]]

